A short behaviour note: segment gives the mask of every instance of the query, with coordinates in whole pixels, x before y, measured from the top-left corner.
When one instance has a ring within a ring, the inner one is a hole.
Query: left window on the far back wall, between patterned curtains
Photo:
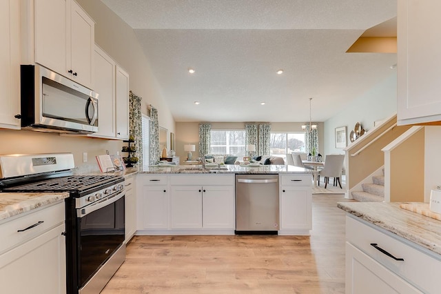
[[[212,130],[210,136],[210,154],[245,156],[245,130]]]

